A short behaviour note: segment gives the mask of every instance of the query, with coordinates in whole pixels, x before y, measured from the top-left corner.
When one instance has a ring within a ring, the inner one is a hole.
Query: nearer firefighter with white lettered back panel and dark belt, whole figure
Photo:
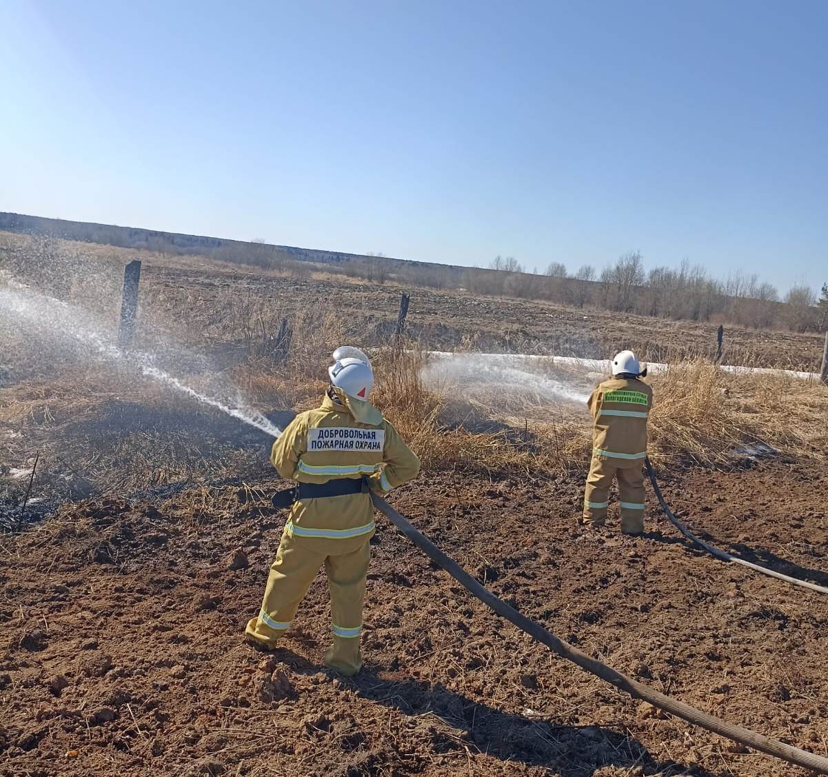
[[[298,481],[262,608],[245,634],[272,649],[291,625],[316,572],[330,588],[333,644],[325,664],[351,675],[362,667],[359,638],[371,556],[373,504],[368,488],[387,494],[412,480],[420,461],[377,408],[368,403],[368,357],[344,346],[334,352],[330,387],[319,408],[300,413],[273,443],[279,474]]]

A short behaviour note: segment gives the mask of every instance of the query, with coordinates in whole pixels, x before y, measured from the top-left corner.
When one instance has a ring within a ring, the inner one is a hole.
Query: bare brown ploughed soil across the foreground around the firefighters
[[[272,656],[242,641],[285,518],[261,492],[64,504],[0,539],[2,775],[801,775],[661,717],[533,643],[384,519],[353,680],[315,581]],[[702,536],[828,584],[828,479],[676,473]],[[576,528],[580,479],[422,477],[394,495],[553,633],[729,721],[828,755],[828,600],[687,548]],[[752,548],[748,551],[747,548]]]

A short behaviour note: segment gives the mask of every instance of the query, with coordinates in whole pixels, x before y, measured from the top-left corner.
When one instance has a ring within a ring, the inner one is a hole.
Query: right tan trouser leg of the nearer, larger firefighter
[[[334,634],[334,644],[325,654],[325,664],[343,674],[356,674],[362,668],[359,637],[370,561],[371,546],[368,542],[353,553],[331,555],[325,559]]]

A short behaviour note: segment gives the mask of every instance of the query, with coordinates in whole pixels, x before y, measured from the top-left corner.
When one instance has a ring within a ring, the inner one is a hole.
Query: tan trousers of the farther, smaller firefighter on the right
[[[614,461],[592,456],[590,474],[586,476],[584,523],[601,527],[607,520],[609,486],[619,481],[621,531],[641,534],[644,531],[644,473],[640,461]]]

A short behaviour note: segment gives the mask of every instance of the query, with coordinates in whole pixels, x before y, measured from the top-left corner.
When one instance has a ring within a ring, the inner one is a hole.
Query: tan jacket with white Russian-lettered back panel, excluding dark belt
[[[326,483],[366,476],[381,494],[420,471],[420,460],[388,421],[383,418],[378,426],[360,423],[328,395],[319,408],[291,421],[273,443],[270,461],[286,480]],[[364,493],[297,500],[286,532],[328,540],[367,539],[373,528],[373,505]]]

